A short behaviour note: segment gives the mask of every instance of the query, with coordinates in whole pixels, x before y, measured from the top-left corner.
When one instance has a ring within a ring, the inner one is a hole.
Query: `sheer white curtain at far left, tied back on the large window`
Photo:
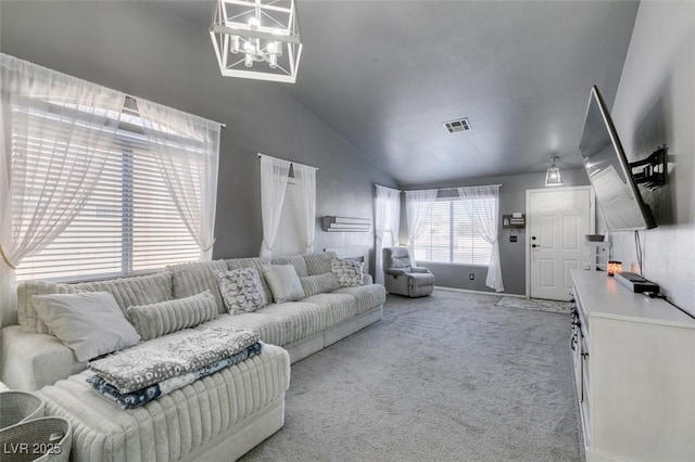
[[[4,325],[16,318],[14,270],[50,244],[84,207],[114,149],[125,97],[7,54],[0,54],[0,91]]]

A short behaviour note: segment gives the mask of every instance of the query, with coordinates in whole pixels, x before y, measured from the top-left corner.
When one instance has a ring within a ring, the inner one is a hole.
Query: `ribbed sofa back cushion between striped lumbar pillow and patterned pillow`
[[[215,274],[226,270],[227,262],[225,260],[195,261],[166,267],[166,271],[172,274],[174,298],[186,298],[210,291],[215,297],[219,313],[226,312],[227,309],[222,299]]]

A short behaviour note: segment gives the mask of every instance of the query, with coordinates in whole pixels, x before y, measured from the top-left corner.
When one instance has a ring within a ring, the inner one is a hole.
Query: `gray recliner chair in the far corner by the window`
[[[407,247],[386,247],[383,284],[391,294],[424,297],[434,290],[434,274],[427,268],[412,266]]]

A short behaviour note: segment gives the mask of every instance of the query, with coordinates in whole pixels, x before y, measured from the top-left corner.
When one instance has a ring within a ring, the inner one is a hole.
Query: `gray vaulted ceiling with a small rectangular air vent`
[[[207,27],[215,1],[151,1]],[[402,184],[579,168],[593,85],[612,103],[639,2],[298,0],[281,85]],[[467,117],[450,134],[443,121]]]

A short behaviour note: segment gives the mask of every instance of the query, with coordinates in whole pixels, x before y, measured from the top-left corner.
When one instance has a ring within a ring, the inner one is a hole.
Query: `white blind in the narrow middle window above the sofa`
[[[290,178],[282,205],[280,229],[278,230],[274,257],[303,254],[306,248],[306,230],[302,220],[302,191],[298,181]]]

